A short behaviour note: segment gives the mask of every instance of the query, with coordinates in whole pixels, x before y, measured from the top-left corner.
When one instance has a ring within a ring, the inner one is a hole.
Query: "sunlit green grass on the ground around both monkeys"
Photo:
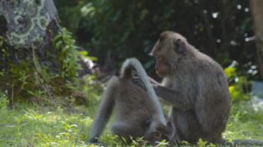
[[[96,106],[1,108],[0,146],[91,146],[87,140]],[[248,102],[233,104],[224,138],[263,140],[262,122],[263,113],[253,111]],[[102,141],[109,146],[124,146],[109,129]],[[139,144],[144,146],[145,141],[137,140],[130,146]]]

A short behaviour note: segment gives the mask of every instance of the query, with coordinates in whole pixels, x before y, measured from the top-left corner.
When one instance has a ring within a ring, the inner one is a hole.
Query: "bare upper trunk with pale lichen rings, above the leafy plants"
[[[32,57],[33,50],[39,62],[48,63],[46,53],[52,54],[52,39],[60,27],[57,10],[51,0],[0,0],[0,69],[8,68],[4,56],[13,63]],[[8,46],[8,47],[6,47]]]

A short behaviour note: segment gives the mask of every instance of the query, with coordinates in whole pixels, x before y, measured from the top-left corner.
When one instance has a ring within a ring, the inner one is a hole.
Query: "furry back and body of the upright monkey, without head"
[[[178,67],[178,79],[174,84],[175,89],[188,95],[193,109],[174,109],[173,115],[182,139],[196,142],[202,137],[219,141],[230,111],[228,81],[216,61],[201,52],[194,53],[196,56],[184,61],[183,65],[187,66]],[[181,129],[185,124],[188,124],[188,131]]]

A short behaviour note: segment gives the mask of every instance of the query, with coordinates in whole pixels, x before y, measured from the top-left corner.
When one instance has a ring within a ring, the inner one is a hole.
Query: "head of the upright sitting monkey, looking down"
[[[149,54],[156,58],[155,70],[159,76],[170,75],[175,68],[174,64],[188,52],[187,44],[185,37],[176,32],[165,31],[161,33]]]

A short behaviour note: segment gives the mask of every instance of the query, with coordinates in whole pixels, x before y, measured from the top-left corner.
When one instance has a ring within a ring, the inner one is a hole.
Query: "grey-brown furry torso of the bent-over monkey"
[[[144,123],[150,119],[156,108],[147,92],[133,83],[131,79],[118,79],[115,92],[116,119]]]

